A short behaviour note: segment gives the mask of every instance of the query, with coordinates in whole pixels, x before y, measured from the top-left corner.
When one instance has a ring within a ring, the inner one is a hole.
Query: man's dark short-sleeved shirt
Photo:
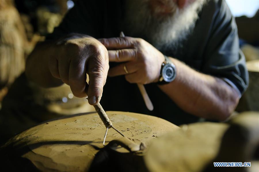
[[[47,39],[57,39],[69,33],[87,34],[95,38],[118,37],[119,32],[124,30],[120,24],[124,18],[124,8],[123,0],[79,0]],[[128,33],[125,35],[141,37]],[[248,73],[245,58],[239,52],[237,26],[225,1],[211,0],[205,4],[194,30],[182,41],[181,46],[159,50],[197,71],[223,78],[240,95],[247,88]],[[152,112],[147,110],[137,85],[128,83],[124,76],[107,78],[100,103],[107,111],[158,116],[176,125],[199,120],[180,109],[156,84],[147,84],[145,87],[154,105]],[[187,96],[185,98],[188,99]]]

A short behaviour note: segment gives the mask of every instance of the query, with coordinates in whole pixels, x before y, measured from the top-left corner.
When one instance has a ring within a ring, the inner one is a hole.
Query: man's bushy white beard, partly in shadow
[[[158,49],[178,46],[193,30],[198,13],[207,0],[197,0],[179,9],[174,1],[167,0],[172,13],[166,17],[151,14],[149,0],[127,0],[125,25],[127,33],[142,36]],[[156,8],[155,13],[161,9]]]

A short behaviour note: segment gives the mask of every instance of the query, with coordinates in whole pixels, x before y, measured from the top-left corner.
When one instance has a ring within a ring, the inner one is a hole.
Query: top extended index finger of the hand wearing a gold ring
[[[101,38],[98,39],[108,50],[134,48],[133,38],[131,37],[116,37],[116,38]]]

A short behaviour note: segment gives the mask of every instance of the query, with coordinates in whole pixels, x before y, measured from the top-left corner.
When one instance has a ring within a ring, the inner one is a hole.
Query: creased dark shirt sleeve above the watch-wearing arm
[[[247,89],[249,77],[239,48],[235,18],[225,1],[216,1],[216,6],[201,72],[222,78],[241,96]]]

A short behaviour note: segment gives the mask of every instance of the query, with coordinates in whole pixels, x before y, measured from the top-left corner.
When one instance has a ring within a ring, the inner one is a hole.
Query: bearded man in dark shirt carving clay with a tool
[[[77,97],[88,90],[89,103],[102,97],[105,110],[178,125],[226,120],[248,85],[235,20],[222,0],[79,0],[32,52],[26,75],[44,87],[66,83]],[[153,111],[134,83],[145,84]]]

